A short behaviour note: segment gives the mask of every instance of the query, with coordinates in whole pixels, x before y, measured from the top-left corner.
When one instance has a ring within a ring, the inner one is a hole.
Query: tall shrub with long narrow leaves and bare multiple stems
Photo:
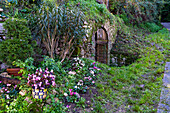
[[[85,36],[83,17],[78,7],[57,7],[55,2],[45,1],[38,11],[30,15],[29,23],[33,37],[39,37],[50,57],[57,54],[63,61]]]

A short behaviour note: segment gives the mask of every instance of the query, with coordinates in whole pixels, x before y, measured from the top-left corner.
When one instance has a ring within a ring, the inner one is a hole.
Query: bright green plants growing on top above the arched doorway
[[[96,23],[104,23],[106,20],[114,21],[114,16],[106,8],[106,5],[99,4],[96,0],[72,0],[68,6],[78,6],[86,15],[86,21],[94,20]]]

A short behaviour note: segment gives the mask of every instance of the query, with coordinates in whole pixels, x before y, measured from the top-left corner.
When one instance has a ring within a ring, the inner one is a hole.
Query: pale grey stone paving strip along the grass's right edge
[[[170,113],[170,62],[165,65],[163,88],[157,113]]]

